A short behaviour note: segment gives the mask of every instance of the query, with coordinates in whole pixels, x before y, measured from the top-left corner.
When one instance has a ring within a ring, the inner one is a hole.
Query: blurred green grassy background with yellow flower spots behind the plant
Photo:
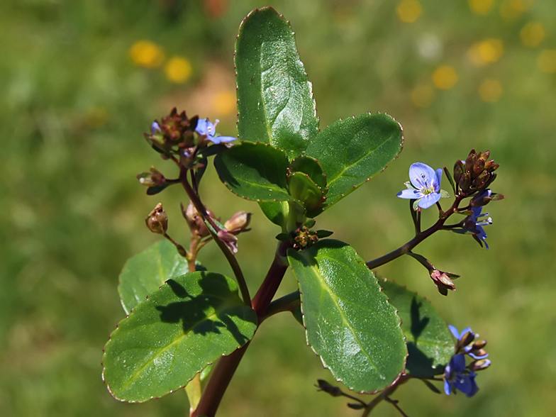
[[[457,272],[438,294],[401,259],[379,269],[427,296],[458,328],[489,340],[479,394],[431,393],[418,381],[394,396],[411,416],[552,416],[556,408],[554,297],[556,4],[541,0],[270,1],[291,21],[321,126],[385,111],[405,146],[387,172],[318,218],[365,260],[411,238],[396,199],[412,162],[452,167],[471,148],[501,164],[488,206],[490,250],[444,233],[418,247]],[[233,45],[261,1],[4,0],[0,3],[0,414],[186,416],[183,392],[122,404],[101,381],[102,347],[124,318],[116,287],[128,257],[157,240],[143,219],[161,201],[169,232],[187,243],[184,193],[155,197],[135,174],[173,167],[142,138],[173,106],[235,135]],[[201,194],[225,220],[254,214],[238,258],[252,292],[277,226],[235,198],[208,169]],[[444,188],[448,188],[444,181]],[[424,216],[434,221],[433,210]],[[214,245],[201,252],[230,274]],[[295,282],[290,273],[282,292]],[[262,326],[221,416],[359,416],[316,392],[333,382],[289,315]],[[398,416],[381,404],[380,416]]]

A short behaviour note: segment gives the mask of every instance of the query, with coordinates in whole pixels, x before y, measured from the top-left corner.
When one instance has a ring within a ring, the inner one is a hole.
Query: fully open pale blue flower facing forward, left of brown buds
[[[411,184],[406,182],[407,189],[397,194],[399,198],[417,200],[421,208],[429,208],[440,200],[442,168],[435,172],[428,165],[416,162],[409,167],[409,179]]]

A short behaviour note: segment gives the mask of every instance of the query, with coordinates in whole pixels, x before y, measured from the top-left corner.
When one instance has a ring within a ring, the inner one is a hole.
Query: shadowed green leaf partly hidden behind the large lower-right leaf
[[[454,341],[436,308],[390,279],[380,278],[379,284],[401,317],[409,352],[406,372],[418,378],[441,374],[454,355]]]

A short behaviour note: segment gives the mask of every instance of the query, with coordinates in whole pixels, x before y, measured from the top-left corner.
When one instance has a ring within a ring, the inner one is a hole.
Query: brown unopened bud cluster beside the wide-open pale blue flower
[[[477,153],[472,149],[465,161],[455,163],[454,180],[462,195],[470,196],[476,191],[486,189],[496,179],[494,171],[500,165],[489,160],[489,156],[488,150]]]

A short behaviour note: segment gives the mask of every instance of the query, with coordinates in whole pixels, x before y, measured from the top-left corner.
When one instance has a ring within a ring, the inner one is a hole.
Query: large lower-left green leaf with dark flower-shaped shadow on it
[[[232,279],[213,272],[169,279],[111,334],[104,381],[121,401],[169,394],[245,345],[256,327],[257,314],[243,304]]]

